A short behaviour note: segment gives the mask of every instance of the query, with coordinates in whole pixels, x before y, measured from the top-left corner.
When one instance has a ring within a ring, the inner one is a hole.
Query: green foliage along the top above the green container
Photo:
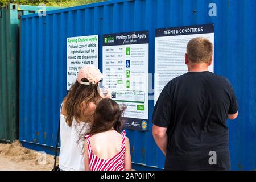
[[[40,5],[45,4],[46,6],[55,7],[71,7],[86,5],[94,2],[101,2],[104,0],[0,0],[0,6],[6,6],[8,3],[16,3],[19,5]]]

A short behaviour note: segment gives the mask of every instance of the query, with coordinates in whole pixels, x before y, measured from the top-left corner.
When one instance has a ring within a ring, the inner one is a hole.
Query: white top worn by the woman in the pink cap
[[[63,171],[84,171],[84,155],[82,154],[84,141],[80,140],[79,143],[77,143],[84,122],[79,123],[73,118],[72,126],[68,126],[65,121],[65,116],[61,114],[61,107],[59,167]],[[89,123],[85,124],[82,132],[85,132],[88,126]]]

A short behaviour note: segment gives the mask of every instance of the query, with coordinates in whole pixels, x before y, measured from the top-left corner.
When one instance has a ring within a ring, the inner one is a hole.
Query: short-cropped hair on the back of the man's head
[[[212,54],[213,45],[207,38],[197,37],[188,42],[187,56],[192,63],[209,63]]]

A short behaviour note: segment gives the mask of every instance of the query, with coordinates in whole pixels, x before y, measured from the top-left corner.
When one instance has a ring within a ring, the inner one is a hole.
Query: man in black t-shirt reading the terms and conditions
[[[208,71],[213,45],[194,38],[187,45],[188,73],[164,87],[152,117],[153,136],[166,155],[166,170],[230,170],[226,120],[238,104],[225,77]]]

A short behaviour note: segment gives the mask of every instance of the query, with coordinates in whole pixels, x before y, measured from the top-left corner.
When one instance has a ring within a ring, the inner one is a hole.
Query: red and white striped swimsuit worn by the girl
[[[90,146],[90,135],[87,138],[87,147],[89,155],[89,167],[91,171],[125,171],[125,130],[122,132],[121,150],[111,159],[101,159],[96,156]]]

